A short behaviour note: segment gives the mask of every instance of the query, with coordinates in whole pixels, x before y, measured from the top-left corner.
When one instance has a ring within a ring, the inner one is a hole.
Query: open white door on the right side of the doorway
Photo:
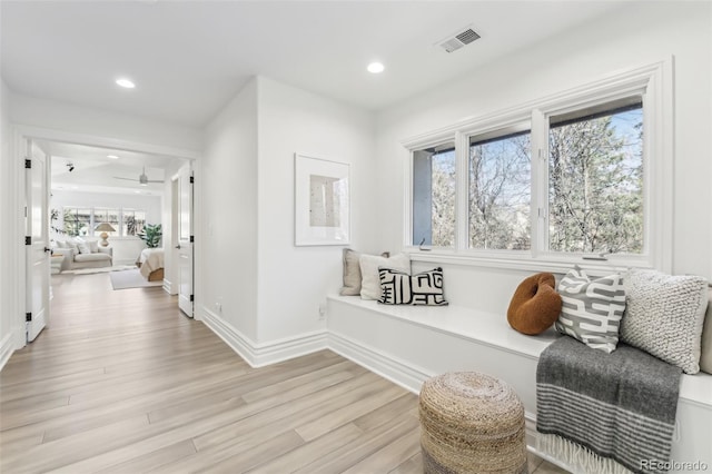
[[[192,171],[178,171],[178,306],[192,317]]]

